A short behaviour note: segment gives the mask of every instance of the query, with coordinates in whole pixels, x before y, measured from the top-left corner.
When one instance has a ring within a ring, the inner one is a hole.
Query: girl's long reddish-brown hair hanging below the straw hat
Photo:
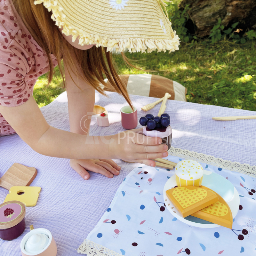
[[[12,0],[12,3],[29,33],[47,56],[49,61],[48,84],[52,81],[54,72],[51,58],[51,54],[53,54],[58,61],[64,84],[64,70],[61,65],[62,58],[68,67],[73,67],[72,72],[76,76],[82,78],[103,95],[105,92],[100,86],[100,83],[105,88],[109,87],[104,82],[104,74],[114,88],[114,91],[122,94],[124,99],[132,107],[126,86],[118,76],[114,61],[112,60],[112,53],[107,52],[107,48],[93,46],[88,50],[79,50],[64,39],[55,22],[51,19],[52,13],[48,12],[43,4],[35,5],[34,0]],[[131,65],[124,55],[123,57],[124,61],[128,65]]]

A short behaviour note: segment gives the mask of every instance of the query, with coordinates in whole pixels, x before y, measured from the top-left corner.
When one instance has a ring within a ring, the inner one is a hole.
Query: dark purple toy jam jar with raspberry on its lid
[[[12,240],[25,229],[25,205],[19,201],[0,204],[0,238]]]

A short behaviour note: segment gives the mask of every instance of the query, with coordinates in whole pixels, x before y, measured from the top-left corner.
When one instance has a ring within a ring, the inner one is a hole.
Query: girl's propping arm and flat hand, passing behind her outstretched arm
[[[95,89],[76,77],[72,69],[65,65],[66,90],[68,95],[68,114],[70,131],[89,135],[91,113],[95,103]],[[69,72],[72,76],[70,76]],[[81,88],[79,88],[78,86]],[[111,159],[70,159],[70,166],[85,180],[91,172],[97,172],[108,178],[118,175],[121,167]]]

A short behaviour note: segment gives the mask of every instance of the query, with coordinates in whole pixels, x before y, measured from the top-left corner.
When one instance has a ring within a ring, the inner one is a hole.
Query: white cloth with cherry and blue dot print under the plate
[[[169,156],[168,160],[177,163],[183,159]],[[224,227],[196,228],[177,220],[168,211],[163,199],[164,185],[174,174],[174,169],[141,164],[124,179],[109,208],[78,252],[126,256],[167,256],[180,253],[255,255],[255,179],[239,172],[200,164],[205,170],[228,179],[237,189],[240,207],[233,219],[233,230]],[[92,244],[107,247],[116,254],[92,252]]]

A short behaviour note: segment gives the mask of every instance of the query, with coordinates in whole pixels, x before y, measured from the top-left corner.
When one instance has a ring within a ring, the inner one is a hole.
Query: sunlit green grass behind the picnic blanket
[[[256,110],[256,42],[233,44],[220,41],[213,46],[209,41],[180,45],[172,53],[126,53],[136,65],[144,69],[158,70],[152,74],[165,76],[183,84],[187,100],[229,108]],[[120,55],[115,60],[122,74],[144,73],[127,68]],[[57,78],[49,87],[46,76],[41,76],[34,89],[37,104],[42,107],[54,100],[63,89],[58,67]]]

